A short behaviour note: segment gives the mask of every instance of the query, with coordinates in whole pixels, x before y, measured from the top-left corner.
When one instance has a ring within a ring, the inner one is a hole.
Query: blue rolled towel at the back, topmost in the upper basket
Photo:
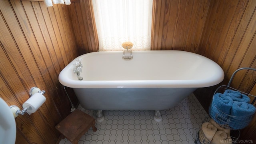
[[[230,98],[232,98],[232,100],[236,102],[250,103],[250,98],[248,96],[241,94],[241,92],[238,92],[236,90],[225,90],[224,95],[230,96]]]

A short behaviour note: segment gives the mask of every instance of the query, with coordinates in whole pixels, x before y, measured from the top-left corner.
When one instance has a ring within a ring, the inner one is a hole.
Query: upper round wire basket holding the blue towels
[[[216,96],[217,93],[223,94],[225,92],[225,90],[233,90],[233,91],[240,92],[241,94],[248,96],[251,100],[250,103],[252,105],[254,105],[254,107],[255,107],[255,100],[256,100],[255,96],[247,94],[245,92],[241,92],[241,91],[236,90],[230,86],[220,86],[214,92],[214,96]],[[214,99],[214,97],[213,97],[213,99]],[[220,110],[220,108],[218,108],[218,106],[216,106],[216,104],[214,103],[214,100],[212,100],[212,103],[210,104],[210,107],[209,107],[209,115],[215,122],[220,124],[222,127],[230,128],[233,130],[239,130],[239,129],[242,129],[242,128],[245,128],[246,126],[248,126],[248,124],[254,118],[255,112],[254,112],[254,114],[251,114],[249,116],[232,116],[230,114],[224,113],[223,110]]]

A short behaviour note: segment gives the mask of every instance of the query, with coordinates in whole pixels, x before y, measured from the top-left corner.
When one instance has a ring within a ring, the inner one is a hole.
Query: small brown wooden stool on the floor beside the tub
[[[61,138],[67,138],[72,144],[77,144],[90,127],[96,132],[94,118],[78,109],[55,126],[62,134]]]

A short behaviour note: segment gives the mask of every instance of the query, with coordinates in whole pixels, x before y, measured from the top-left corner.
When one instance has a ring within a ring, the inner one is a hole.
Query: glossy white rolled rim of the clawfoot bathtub
[[[181,50],[161,50],[163,51],[179,51],[184,53],[191,53],[195,56],[203,57],[206,60],[210,60],[205,56],[196,54],[193,52],[186,52]],[[135,51],[135,52],[152,52],[152,51]],[[157,51],[153,51],[157,52]],[[224,71],[222,68],[214,61],[210,60],[211,63],[216,67],[217,74],[215,78],[209,78],[207,80],[72,80],[65,75],[65,70],[73,67],[73,63],[86,55],[96,55],[98,53],[120,53],[122,51],[107,51],[107,52],[91,52],[78,56],[72,62],[70,62],[59,74],[59,82],[70,88],[203,88],[214,86],[219,84],[224,79]],[[218,77],[218,78],[216,78]],[[186,82],[185,82],[186,81]],[[78,84],[79,82],[79,84]]]

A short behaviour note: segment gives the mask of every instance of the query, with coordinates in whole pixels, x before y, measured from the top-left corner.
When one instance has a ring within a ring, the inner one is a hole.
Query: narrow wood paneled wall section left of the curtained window
[[[92,1],[81,0],[80,2],[75,2],[70,6],[70,13],[80,55],[88,52],[97,52],[99,42]]]

